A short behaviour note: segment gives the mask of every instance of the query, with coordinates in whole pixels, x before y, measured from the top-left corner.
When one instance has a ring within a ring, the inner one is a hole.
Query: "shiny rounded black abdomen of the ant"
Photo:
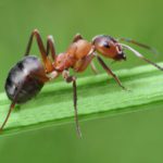
[[[23,103],[34,98],[42,88],[43,83],[36,74],[45,75],[45,68],[36,57],[25,57],[17,62],[5,82],[5,91],[10,100],[14,100],[17,90],[16,103]]]

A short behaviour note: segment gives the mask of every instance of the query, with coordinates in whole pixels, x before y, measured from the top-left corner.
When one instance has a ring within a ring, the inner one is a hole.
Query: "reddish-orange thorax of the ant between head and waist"
[[[88,61],[92,45],[87,40],[79,39],[73,42],[64,53],[60,53],[54,62],[55,70],[63,72],[70,67],[75,72],[84,71],[90,63]]]

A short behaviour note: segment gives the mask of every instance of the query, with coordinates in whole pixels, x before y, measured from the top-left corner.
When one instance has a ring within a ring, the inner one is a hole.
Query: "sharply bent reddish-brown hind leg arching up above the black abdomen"
[[[40,34],[39,34],[39,32],[37,29],[33,30],[33,33],[32,33],[32,35],[29,37],[29,40],[28,40],[28,43],[27,43],[27,48],[26,48],[26,51],[25,51],[25,55],[29,54],[34,37],[36,37],[37,45],[38,45],[39,51],[41,53],[41,58],[42,58],[46,71],[47,71],[47,73],[49,73],[49,72],[51,72],[53,70],[53,66],[52,66],[51,61],[47,57],[47,51],[46,51],[46,49],[43,47],[42,39],[41,39]]]

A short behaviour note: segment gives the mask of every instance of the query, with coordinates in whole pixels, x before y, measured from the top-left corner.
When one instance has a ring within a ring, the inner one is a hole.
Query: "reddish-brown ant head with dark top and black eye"
[[[92,43],[98,52],[114,60],[126,60],[122,46],[112,37],[100,35],[92,39]]]

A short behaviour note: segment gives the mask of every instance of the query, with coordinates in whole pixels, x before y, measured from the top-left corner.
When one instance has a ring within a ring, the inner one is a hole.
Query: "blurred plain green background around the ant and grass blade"
[[[40,30],[45,42],[47,35],[53,35],[58,52],[68,47],[76,33],[88,40],[108,34],[153,46],[160,55],[137,49],[154,62],[162,61],[162,0],[1,0],[0,91],[9,70],[23,57],[34,28]],[[39,55],[36,43],[32,53]],[[127,61],[113,64],[113,70],[146,64],[127,53]],[[83,75],[90,74],[87,70]],[[83,122],[83,140],[76,138],[72,124],[0,137],[1,162],[162,162],[163,112],[154,105],[152,109]]]

